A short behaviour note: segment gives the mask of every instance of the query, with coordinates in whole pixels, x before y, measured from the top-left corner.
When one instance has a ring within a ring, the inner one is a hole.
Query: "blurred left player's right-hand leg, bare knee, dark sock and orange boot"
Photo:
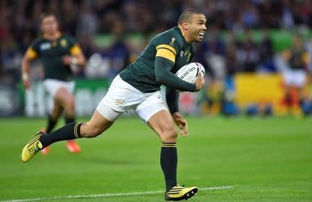
[[[65,87],[60,87],[55,93],[55,100],[64,108],[66,124],[75,122],[75,98],[73,94]],[[80,152],[80,147],[74,140],[67,142],[67,149],[73,153]]]

